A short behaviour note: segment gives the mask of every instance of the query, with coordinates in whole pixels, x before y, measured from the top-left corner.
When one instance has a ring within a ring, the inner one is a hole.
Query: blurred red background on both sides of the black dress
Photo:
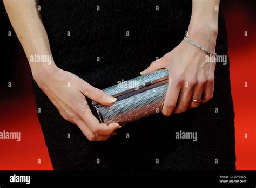
[[[231,62],[237,170],[256,170],[254,10],[238,1],[223,6]],[[8,26],[3,33],[10,30]],[[247,37],[244,36],[245,31],[248,32]],[[14,63],[5,70],[9,70],[11,76],[5,77],[1,87],[0,131],[21,131],[21,141],[0,140],[0,170],[52,170],[37,119],[28,62],[16,40],[11,43],[14,55],[8,57]],[[9,43],[2,43],[1,50],[4,46],[9,46]],[[9,81],[11,88],[8,87]],[[245,82],[248,87],[244,87]],[[248,138],[244,137],[245,133]],[[41,164],[38,164],[38,159],[41,159]]]

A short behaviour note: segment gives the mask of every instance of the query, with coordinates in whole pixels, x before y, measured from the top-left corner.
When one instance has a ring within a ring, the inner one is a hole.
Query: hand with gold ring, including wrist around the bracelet
[[[188,39],[208,50],[215,51],[217,33],[211,35],[200,31],[189,31]],[[183,40],[171,52],[166,53],[141,74],[160,68],[169,70],[169,87],[162,113],[171,115],[195,108],[199,103],[192,99],[207,102],[213,96],[215,62],[206,62],[206,52]]]

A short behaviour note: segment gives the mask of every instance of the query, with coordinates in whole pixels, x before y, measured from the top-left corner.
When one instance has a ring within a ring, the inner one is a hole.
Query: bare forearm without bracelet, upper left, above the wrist
[[[49,40],[44,29],[35,0],[4,0],[10,22],[29,60],[32,74],[50,72],[56,65],[53,62]],[[31,62],[31,55],[49,55],[51,64]]]

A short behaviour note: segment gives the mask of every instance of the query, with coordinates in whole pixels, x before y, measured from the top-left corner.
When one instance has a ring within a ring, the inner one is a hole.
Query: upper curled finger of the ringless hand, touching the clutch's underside
[[[121,128],[118,123],[99,123],[99,120],[91,113],[90,110],[85,110],[85,113],[80,115],[80,118],[91,129],[94,134],[110,135],[114,130]]]

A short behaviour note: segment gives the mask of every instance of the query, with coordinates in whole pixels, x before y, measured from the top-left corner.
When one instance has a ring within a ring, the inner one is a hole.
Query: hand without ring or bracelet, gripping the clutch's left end
[[[102,105],[111,105],[116,101],[116,98],[103,90],[92,87],[75,74],[57,67],[51,73],[32,74],[60,115],[76,124],[89,141],[105,141],[116,134],[114,130],[121,127],[118,123],[100,123],[87,105],[85,96]]]

